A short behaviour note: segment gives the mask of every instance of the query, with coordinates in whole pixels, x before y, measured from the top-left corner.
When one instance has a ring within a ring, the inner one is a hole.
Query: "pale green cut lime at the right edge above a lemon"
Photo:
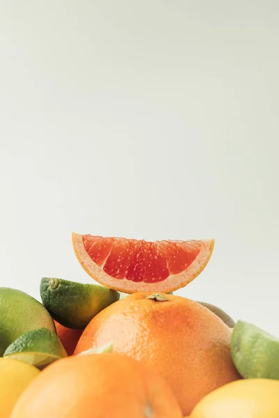
[[[232,331],[232,361],[243,378],[279,380],[279,339],[239,320]]]

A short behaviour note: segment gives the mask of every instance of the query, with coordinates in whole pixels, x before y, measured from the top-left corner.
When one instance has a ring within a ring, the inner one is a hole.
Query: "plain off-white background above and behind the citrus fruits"
[[[0,286],[72,231],[216,238],[178,293],[279,336],[277,0],[1,0]]]

